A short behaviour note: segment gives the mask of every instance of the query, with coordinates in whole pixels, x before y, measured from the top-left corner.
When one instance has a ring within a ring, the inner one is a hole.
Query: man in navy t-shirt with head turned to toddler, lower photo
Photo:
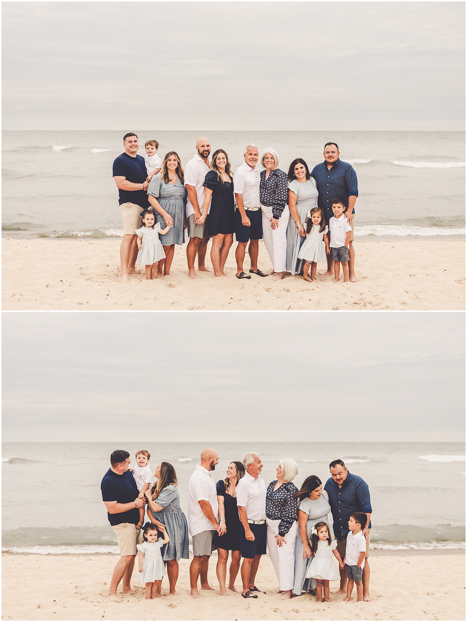
[[[123,592],[134,592],[130,580],[136,557],[136,544],[141,540],[141,529],[136,529],[139,522],[139,510],[146,503],[138,498],[138,489],[134,477],[128,470],[130,455],[123,449],[117,449],[110,456],[111,467],[101,481],[102,500],[107,508],[107,516],[117,536],[120,559],[117,562],[109,587],[109,599],[117,599],[118,584],[123,579]]]

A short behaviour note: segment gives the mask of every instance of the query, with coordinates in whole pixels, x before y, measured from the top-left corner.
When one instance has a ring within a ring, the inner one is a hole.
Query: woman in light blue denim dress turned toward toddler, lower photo
[[[154,177],[153,177],[154,179]],[[175,594],[180,558],[188,559],[188,523],[180,507],[180,493],[177,490],[177,473],[169,462],[161,462],[154,471],[157,482],[152,490],[146,491],[147,516],[155,525],[162,523],[169,534],[170,542],[161,550],[167,565],[170,593]]]

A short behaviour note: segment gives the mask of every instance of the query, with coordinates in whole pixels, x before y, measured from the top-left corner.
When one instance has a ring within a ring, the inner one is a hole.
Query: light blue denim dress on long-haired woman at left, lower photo
[[[164,544],[160,551],[162,559],[164,562],[167,562],[169,559],[176,559],[178,562],[180,557],[188,559],[188,522],[180,507],[180,493],[178,493],[177,488],[172,485],[165,486],[164,490],[160,491],[159,496],[155,499],[155,503],[164,509],[154,512],[148,507],[147,511],[152,513],[156,521],[160,521],[165,525],[165,530],[170,538],[170,542]]]

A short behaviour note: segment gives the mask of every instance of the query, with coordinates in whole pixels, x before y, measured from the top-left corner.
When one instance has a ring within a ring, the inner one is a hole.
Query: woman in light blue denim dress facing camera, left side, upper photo
[[[162,169],[152,177],[147,188],[147,198],[156,213],[156,222],[164,229],[172,225],[169,233],[159,236],[164,246],[165,259],[161,259],[157,266],[158,277],[170,274],[175,244],[182,246],[185,242],[187,188],[183,182],[182,162],[177,152],[169,151],[165,154]]]

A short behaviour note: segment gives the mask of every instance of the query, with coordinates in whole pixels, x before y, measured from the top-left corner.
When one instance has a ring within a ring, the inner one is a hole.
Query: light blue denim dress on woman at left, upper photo
[[[167,211],[173,218],[173,225],[165,235],[159,235],[160,242],[164,246],[171,244],[182,244],[185,242],[185,231],[183,230],[183,218],[185,216],[185,205],[187,203],[187,188],[177,177],[177,183],[164,183],[160,173],[154,175],[147,188],[147,193],[157,198],[160,207]],[[155,211],[155,221],[160,223],[162,229],[167,226],[164,218]]]

